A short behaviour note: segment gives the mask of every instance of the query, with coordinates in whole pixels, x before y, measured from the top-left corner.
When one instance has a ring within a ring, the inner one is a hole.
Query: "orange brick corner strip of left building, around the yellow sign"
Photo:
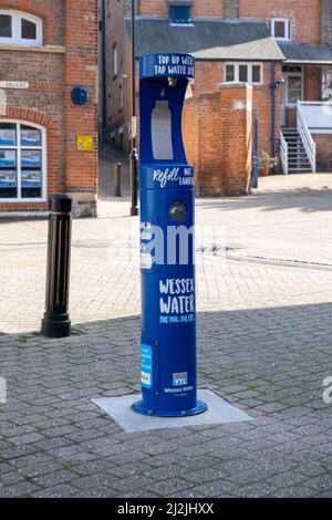
[[[75,15],[73,17],[73,12]],[[97,0],[65,2],[65,185],[75,206],[96,210],[97,194]],[[85,85],[90,101],[76,106],[72,87]],[[92,135],[93,152],[77,152],[76,136]]]

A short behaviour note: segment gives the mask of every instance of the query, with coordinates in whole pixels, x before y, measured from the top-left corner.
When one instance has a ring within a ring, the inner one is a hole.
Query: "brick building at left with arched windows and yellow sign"
[[[97,0],[0,0],[0,210],[95,215]]]

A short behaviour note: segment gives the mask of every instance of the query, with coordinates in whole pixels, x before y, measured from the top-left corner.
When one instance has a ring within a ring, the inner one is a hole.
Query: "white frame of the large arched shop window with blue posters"
[[[31,123],[30,121],[22,119],[10,119],[10,118],[0,118],[0,124],[10,123],[17,126],[17,144],[15,146],[0,145],[0,150],[8,149],[17,152],[17,183],[18,183],[18,197],[3,197],[0,198],[1,204],[17,204],[17,202],[45,202],[48,200],[48,142],[46,142],[46,128],[44,126]],[[21,146],[21,126],[31,126],[41,131],[41,146]],[[41,173],[42,173],[42,189],[41,197],[22,197],[22,165],[21,165],[21,152],[22,150],[41,150]]]

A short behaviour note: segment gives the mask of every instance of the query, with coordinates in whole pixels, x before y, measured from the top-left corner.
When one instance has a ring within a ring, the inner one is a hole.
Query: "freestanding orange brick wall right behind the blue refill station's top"
[[[251,171],[252,87],[221,84],[185,104],[184,141],[198,195],[245,195]]]

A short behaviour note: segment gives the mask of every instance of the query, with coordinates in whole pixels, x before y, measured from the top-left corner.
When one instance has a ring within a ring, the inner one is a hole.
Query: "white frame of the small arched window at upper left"
[[[10,38],[0,37],[0,45],[17,46],[42,46],[43,45],[43,20],[28,12],[13,9],[0,9],[0,14],[11,17],[12,34]],[[35,39],[22,38],[22,20],[35,24]]]

